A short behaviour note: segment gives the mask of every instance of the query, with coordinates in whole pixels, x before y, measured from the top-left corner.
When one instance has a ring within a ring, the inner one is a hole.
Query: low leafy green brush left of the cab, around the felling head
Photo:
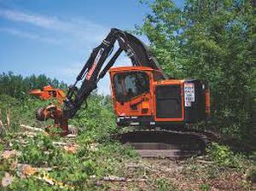
[[[21,155],[17,159],[20,164],[54,167],[54,171],[49,171],[49,177],[67,185],[73,185],[75,190],[94,189],[95,181],[109,174],[123,176],[123,172],[119,169],[122,169],[125,160],[138,158],[132,148],[125,148],[119,142],[110,141],[108,136],[117,130],[112,105],[109,97],[96,94],[90,96],[88,109],[81,109],[78,115],[70,121],[79,128],[79,136],[74,141],[79,145],[77,153],[67,153],[63,148],[53,144],[53,141],[62,142],[65,138],[41,134],[29,137],[22,134],[19,124],[30,124],[38,128],[47,125],[46,122],[36,121],[34,112],[38,107],[44,107],[50,102],[39,101],[30,96],[20,100],[0,95],[0,108],[2,111],[11,109],[13,124],[11,130],[1,137],[0,151],[7,148],[20,151]],[[3,115],[4,118],[5,115]],[[49,120],[49,123],[52,124],[52,121]],[[1,160],[0,164],[0,171],[9,171],[15,176],[15,181],[9,186],[10,189],[60,189],[59,186],[49,185],[34,177],[20,179],[10,170],[11,163],[7,160]],[[95,177],[95,180],[91,180],[91,176]],[[101,188],[97,189],[101,190]]]

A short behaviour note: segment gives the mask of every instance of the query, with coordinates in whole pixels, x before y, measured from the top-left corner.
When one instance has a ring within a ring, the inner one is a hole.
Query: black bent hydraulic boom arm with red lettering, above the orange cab
[[[119,49],[102,69],[108,56],[112,54],[116,42],[119,44]],[[82,103],[86,101],[87,97],[90,95],[90,92],[96,89],[98,81],[105,76],[106,72],[113,66],[122,51],[125,51],[125,54],[129,56],[133,66],[151,67],[161,71],[154,56],[151,55],[149,49],[143,42],[128,32],[113,28],[111,32],[108,33],[107,38],[93,49],[88,61],[84,64],[81,72],[79,72],[76,82],[69,87],[67,98],[62,108],[65,118],[73,118]],[[78,89],[76,85],[79,81],[82,81],[82,84]]]

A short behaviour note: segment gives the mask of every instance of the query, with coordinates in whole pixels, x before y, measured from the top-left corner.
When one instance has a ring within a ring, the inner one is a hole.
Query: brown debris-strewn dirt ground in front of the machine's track
[[[121,173],[100,184],[109,190],[256,190],[245,171],[224,169],[204,157],[195,159],[141,159],[127,163]]]

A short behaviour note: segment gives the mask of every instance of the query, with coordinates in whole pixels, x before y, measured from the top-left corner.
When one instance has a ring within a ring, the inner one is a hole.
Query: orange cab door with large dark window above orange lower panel
[[[148,72],[113,74],[113,104],[118,116],[151,114],[152,99]]]

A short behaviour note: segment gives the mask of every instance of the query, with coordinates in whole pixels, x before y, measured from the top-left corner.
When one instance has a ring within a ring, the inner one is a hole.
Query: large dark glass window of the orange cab
[[[149,92],[149,78],[146,72],[117,73],[113,77],[116,99],[119,102]]]

